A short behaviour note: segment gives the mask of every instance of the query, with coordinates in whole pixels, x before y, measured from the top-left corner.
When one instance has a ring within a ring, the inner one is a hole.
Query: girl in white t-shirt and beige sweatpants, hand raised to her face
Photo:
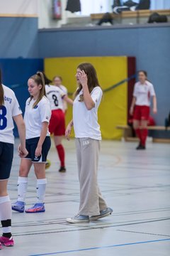
[[[76,137],[77,165],[80,183],[79,213],[67,218],[69,223],[88,223],[110,215],[98,188],[98,154],[101,131],[98,124],[98,107],[103,92],[98,83],[96,70],[90,63],[82,63],[77,68],[78,89],[73,104],[73,120],[66,129],[69,139],[72,126]]]

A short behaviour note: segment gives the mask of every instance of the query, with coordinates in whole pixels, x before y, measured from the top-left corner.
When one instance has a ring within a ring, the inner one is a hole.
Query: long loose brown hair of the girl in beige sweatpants
[[[84,70],[84,72],[87,75],[87,85],[90,93],[92,92],[92,90],[94,90],[94,87],[96,86],[101,87],[98,82],[96,69],[94,68],[93,65],[91,65],[91,63],[81,63],[78,65],[77,69],[78,68],[80,70]],[[75,97],[77,97],[77,95],[79,95],[79,92],[81,91],[81,89],[82,89],[82,85],[80,84],[79,87],[77,88],[77,91],[74,92],[74,99]],[[79,101],[81,102],[84,101],[83,95],[81,95]]]

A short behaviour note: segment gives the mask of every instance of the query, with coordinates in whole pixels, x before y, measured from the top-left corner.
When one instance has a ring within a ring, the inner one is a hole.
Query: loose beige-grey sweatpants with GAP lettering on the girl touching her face
[[[98,154],[100,142],[96,139],[76,139],[77,165],[80,184],[79,214],[98,215],[107,208],[98,188]]]

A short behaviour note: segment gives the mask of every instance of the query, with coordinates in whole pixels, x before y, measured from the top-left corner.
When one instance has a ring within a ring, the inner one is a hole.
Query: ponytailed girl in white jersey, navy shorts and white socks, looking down
[[[37,178],[37,203],[26,210],[26,213],[45,212],[44,199],[47,180],[45,178],[45,162],[50,150],[51,141],[48,124],[51,117],[50,102],[45,93],[43,74],[38,72],[28,79],[30,97],[26,101],[26,149],[28,156],[21,160],[18,177],[18,201],[12,209],[20,213],[25,210],[26,191],[30,167],[34,166]]]

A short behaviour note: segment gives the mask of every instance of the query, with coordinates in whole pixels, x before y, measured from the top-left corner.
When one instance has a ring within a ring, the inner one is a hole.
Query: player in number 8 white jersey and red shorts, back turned
[[[50,80],[43,73],[45,78],[45,90],[47,98],[50,100],[52,116],[49,124],[50,134],[54,135],[55,147],[60,159],[60,172],[65,172],[65,151],[62,145],[62,137],[65,134],[65,117],[64,117],[64,105],[63,101],[73,104],[73,101],[69,99],[67,93],[60,89],[60,87],[50,85]],[[48,164],[48,163],[47,163]],[[46,164],[46,166],[47,166]]]

